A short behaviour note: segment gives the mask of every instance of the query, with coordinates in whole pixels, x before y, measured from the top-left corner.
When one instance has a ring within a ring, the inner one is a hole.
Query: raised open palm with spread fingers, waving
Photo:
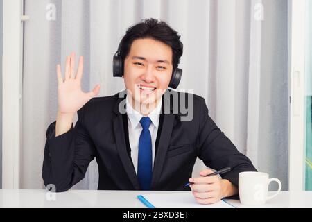
[[[75,113],[87,103],[92,97],[98,95],[100,85],[96,85],[91,92],[81,90],[81,79],[83,77],[83,56],[80,56],[78,70],[75,76],[75,53],[67,56],[65,64],[64,79],[60,65],[57,66],[58,75],[58,112],[62,114]]]

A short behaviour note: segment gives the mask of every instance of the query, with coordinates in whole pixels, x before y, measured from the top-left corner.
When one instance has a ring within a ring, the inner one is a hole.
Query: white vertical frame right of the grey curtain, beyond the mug
[[[291,3],[289,191],[304,190],[304,28],[306,0]]]

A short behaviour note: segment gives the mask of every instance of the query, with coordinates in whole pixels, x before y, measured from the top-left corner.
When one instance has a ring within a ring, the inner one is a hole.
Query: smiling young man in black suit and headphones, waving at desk
[[[209,117],[205,99],[167,89],[180,82],[182,49],[180,35],[165,22],[146,19],[130,27],[114,56],[114,76],[124,78],[125,92],[93,99],[99,85],[89,93],[80,87],[83,57],[76,75],[73,53],[64,78],[58,65],[58,117],[46,132],[44,184],[67,191],[96,157],[98,189],[191,188],[203,204],[238,194],[239,173],[256,171],[248,157]],[[183,100],[191,116],[187,120],[180,110]],[[212,169],[232,171],[222,178],[205,177],[213,172],[205,169],[191,178],[196,157]]]

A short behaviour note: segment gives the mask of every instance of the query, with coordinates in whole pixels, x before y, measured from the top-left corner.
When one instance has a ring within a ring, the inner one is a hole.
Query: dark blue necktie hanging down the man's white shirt
[[[140,120],[143,128],[139,139],[139,156],[137,161],[137,178],[142,190],[150,189],[152,181],[152,139],[150,137],[150,118],[142,117]]]

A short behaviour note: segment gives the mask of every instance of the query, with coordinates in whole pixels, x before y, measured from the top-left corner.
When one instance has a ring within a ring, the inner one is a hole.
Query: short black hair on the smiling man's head
[[[153,18],[145,19],[131,26],[126,31],[118,49],[123,63],[128,56],[132,42],[144,38],[151,38],[170,46],[173,54],[173,70],[177,68],[183,53],[183,44],[180,41],[180,35],[178,35],[177,31],[173,30],[173,28],[168,26],[166,22],[158,21]]]

